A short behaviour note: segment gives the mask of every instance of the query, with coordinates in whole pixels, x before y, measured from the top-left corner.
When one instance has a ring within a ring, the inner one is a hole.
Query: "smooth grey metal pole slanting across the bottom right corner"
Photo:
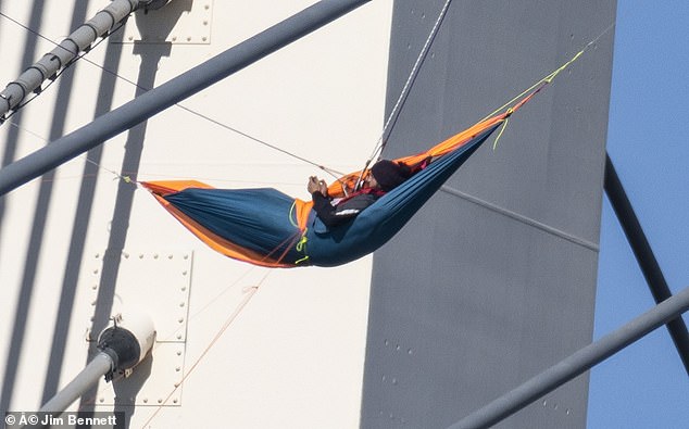
[[[511,392],[464,417],[450,429],[488,428],[581,375],[594,365],[689,310],[689,288],[617,330],[577,351]]]

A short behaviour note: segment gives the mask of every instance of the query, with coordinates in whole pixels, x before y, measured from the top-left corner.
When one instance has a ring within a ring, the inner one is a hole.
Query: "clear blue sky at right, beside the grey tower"
[[[689,1],[617,0],[607,152],[674,293],[689,287],[688,42]],[[594,340],[654,306],[606,198],[600,249]],[[587,427],[689,428],[667,329],[591,370]]]

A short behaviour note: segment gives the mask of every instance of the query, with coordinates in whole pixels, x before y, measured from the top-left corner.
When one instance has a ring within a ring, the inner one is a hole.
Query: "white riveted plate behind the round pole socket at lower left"
[[[112,382],[100,381],[96,405],[181,405],[192,258],[191,251],[122,252],[111,316],[142,312],[153,320],[155,343],[130,375],[116,374]],[[90,278],[83,281],[92,305],[102,265],[103,253],[96,253]],[[90,328],[91,320],[86,321]],[[90,335],[92,340],[97,337],[98,332]]]

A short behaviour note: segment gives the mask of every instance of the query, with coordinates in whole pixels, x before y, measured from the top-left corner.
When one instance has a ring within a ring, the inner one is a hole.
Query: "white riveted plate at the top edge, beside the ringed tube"
[[[124,43],[208,45],[213,0],[173,0],[158,10],[136,11],[124,28]]]

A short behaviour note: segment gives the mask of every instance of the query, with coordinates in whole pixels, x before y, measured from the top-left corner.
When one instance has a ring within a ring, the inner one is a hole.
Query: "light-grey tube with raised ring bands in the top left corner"
[[[43,81],[53,77],[59,71],[70,64],[99,37],[113,29],[131,12],[150,3],[155,3],[155,0],[113,0],[105,9],[82,24],[55,49],[45,54],[0,92],[0,119],[5,117],[8,112],[20,106],[26,96],[40,90]],[[162,4],[152,5],[159,8]]]

